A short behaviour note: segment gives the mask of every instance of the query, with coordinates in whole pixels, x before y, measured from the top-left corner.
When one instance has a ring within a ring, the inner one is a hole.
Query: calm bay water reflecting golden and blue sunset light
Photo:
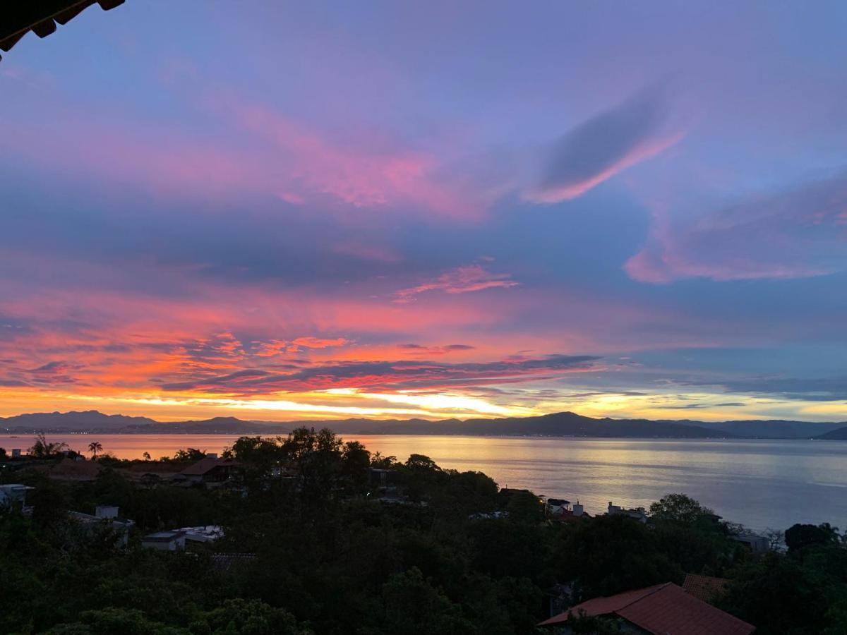
[[[171,456],[180,448],[221,451],[237,435],[49,435],[74,450],[92,440],[120,458]],[[794,522],[847,527],[847,443],[838,441],[540,439],[347,435],[372,452],[405,461],[424,454],[441,467],[479,470],[501,487],[579,499],[592,513],[608,501],[648,506],[669,492],[694,496],[728,520],[784,529]],[[27,448],[28,436],[0,435]]]

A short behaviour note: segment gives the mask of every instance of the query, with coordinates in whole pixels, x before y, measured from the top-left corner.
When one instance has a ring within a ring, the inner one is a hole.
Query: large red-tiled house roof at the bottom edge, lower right
[[[750,635],[756,630],[673,583],[590,599],[539,626],[567,633],[567,621],[578,615],[608,617],[622,632],[642,635]]]

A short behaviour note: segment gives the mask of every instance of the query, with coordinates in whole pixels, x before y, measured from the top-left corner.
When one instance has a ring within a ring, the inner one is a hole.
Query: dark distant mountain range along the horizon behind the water
[[[98,411],[36,412],[0,417],[6,433],[205,433],[284,434],[294,428],[331,428],[342,434],[462,434],[473,436],[570,436],[628,439],[832,439],[847,440],[847,422],[747,420],[702,422],[596,419],[574,412],[497,419],[341,419],[262,422],[236,417],[158,422],[148,417],[104,415]]]

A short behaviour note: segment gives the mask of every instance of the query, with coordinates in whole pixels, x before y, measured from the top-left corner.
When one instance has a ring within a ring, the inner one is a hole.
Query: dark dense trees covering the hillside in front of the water
[[[683,494],[656,501],[645,523],[557,522],[530,492],[426,456],[372,455],[329,430],[239,439],[227,452],[239,476],[217,487],[136,478],[130,468],[145,461],[102,451],[96,478],[50,478],[58,450],[40,439],[32,467],[5,461],[0,472],[34,488],[31,510],[0,510],[3,633],[545,632],[535,625],[551,605],[687,572],[727,578],[716,604],[761,635],[847,632],[847,541],[828,525],[795,525],[754,553]],[[126,546],[108,523],[82,532],[69,516],[104,504],[135,522]],[[141,547],[145,533],[212,524],[224,538],[211,544]]]

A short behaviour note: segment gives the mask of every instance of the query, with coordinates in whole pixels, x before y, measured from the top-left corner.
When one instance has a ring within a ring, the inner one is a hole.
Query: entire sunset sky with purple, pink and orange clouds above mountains
[[[847,5],[98,7],[0,61],[0,416],[847,420]]]

